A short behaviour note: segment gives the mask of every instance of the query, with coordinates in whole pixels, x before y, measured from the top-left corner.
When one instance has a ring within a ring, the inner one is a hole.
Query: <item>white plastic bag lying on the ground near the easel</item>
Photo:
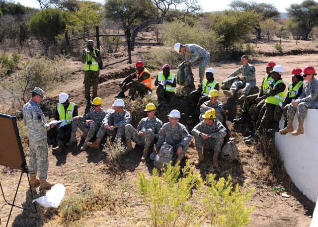
[[[61,200],[64,198],[65,195],[65,187],[63,184],[56,184],[54,185],[51,190],[47,191],[45,196],[37,198],[32,201],[35,201],[41,204],[43,207],[54,207],[58,208],[61,204]]]

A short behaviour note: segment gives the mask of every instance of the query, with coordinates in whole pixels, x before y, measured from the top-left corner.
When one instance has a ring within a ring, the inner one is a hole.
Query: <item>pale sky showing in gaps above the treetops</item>
[[[39,2],[36,0],[14,0],[16,3],[20,2],[22,5],[39,8]],[[100,3],[104,3],[104,0],[92,0],[97,1]],[[232,0],[198,0],[199,4],[202,6],[203,12],[210,12],[210,11],[222,11],[225,9],[229,9],[229,4]],[[297,3],[300,4],[303,0],[289,0],[286,3],[286,0],[248,0],[248,1],[256,1],[256,2],[266,2],[269,4],[274,4],[279,12],[286,12],[285,8],[288,8],[290,4]],[[217,3],[216,3],[217,2]]]

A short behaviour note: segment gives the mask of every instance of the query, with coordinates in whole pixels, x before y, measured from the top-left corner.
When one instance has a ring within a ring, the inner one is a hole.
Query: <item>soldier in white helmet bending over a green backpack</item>
[[[181,43],[176,43],[174,44],[173,49],[184,55],[186,65],[190,65],[192,67],[199,61],[199,78],[201,83],[204,78],[205,68],[210,61],[210,53],[196,44],[182,45]]]

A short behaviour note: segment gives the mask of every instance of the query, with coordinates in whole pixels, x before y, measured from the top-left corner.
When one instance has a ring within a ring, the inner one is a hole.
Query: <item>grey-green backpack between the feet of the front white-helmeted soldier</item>
[[[158,169],[166,169],[167,164],[173,161],[175,154],[171,145],[164,144],[161,146],[154,160],[154,166]]]

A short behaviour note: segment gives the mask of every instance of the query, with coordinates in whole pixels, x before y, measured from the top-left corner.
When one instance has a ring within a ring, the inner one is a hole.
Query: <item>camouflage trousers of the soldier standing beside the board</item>
[[[29,174],[35,176],[39,172],[39,179],[46,180],[49,168],[48,159],[48,143],[46,138],[39,141],[29,141],[30,159],[29,159]]]

